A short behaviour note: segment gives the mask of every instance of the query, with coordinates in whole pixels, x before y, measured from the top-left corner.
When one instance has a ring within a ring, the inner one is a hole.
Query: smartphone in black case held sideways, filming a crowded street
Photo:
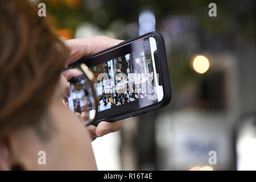
[[[166,48],[158,32],[82,57],[69,67],[81,63],[94,75],[98,97],[96,125],[135,117],[171,101]]]

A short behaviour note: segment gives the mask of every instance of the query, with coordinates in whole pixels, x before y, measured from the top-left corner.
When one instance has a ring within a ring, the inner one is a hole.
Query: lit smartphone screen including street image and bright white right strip
[[[159,83],[157,56],[156,40],[149,36],[94,57],[90,63],[101,62],[90,67],[95,77],[98,112],[135,102],[137,109],[160,102],[163,87]]]

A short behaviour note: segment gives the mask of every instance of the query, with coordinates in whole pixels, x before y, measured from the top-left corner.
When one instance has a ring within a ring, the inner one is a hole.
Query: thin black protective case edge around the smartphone
[[[150,105],[150,106],[147,106],[147,107],[143,107],[143,108],[135,110],[135,111],[127,111],[127,114],[113,115],[112,118],[107,118],[107,119],[105,118],[104,121],[114,122],[114,121],[119,121],[121,119],[129,118],[129,117],[136,117],[138,115],[147,113],[148,111],[164,107],[164,106],[166,106],[170,103],[171,98],[172,98],[172,90],[171,90],[170,75],[169,75],[168,64],[167,64],[166,47],[165,47],[165,44],[164,44],[163,36],[161,34],[159,34],[159,32],[148,32],[147,34],[144,34],[142,36],[138,36],[137,38],[133,38],[133,39],[129,39],[129,40],[126,40],[124,42],[121,42],[121,43],[117,44],[117,46],[110,47],[108,49],[105,49],[104,51],[95,53],[95,54],[90,55],[90,56],[82,57],[81,59],[79,59],[79,60],[75,61],[74,63],[68,65],[69,67],[73,67],[73,66],[75,66],[77,64],[80,64],[80,63],[85,63],[86,64],[86,60],[90,59],[90,57],[100,55],[104,52],[107,52],[107,51],[110,51],[112,49],[121,47],[121,46],[123,46],[127,43],[134,42],[137,39],[141,39],[141,38],[144,38],[144,37],[149,36],[149,35],[154,36],[154,38],[156,39],[156,46],[158,47],[158,55],[159,55],[158,59],[159,59],[159,64],[160,64],[159,66],[160,66],[160,73],[161,73],[160,76],[162,77],[163,92],[164,92],[163,100],[161,102],[159,102],[158,104],[155,104],[155,105]],[[92,125],[97,126],[100,121],[102,121],[102,120],[98,119],[97,121],[94,121],[92,123]]]

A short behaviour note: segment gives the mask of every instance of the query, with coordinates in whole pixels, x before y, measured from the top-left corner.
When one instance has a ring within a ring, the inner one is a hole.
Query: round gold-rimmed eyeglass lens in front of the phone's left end
[[[63,71],[69,82],[70,97],[64,104],[74,113],[80,113],[82,122],[88,126],[93,123],[98,111],[98,99],[94,88],[94,75],[84,64]]]

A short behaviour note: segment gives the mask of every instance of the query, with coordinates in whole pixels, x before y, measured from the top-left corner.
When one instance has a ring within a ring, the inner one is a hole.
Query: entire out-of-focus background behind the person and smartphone
[[[31,0],[32,1],[32,0]],[[159,31],[172,84],[167,107],[126,119],[92,145],[100,170],[256,170],[255,1],[45,0],[64,39]],[[216,164],[210,164],[216,152]]]

